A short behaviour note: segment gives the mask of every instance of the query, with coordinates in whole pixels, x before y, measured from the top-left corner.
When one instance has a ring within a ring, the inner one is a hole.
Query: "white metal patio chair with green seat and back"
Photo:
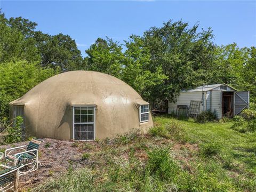
[[[24,169],[19,170],[19,174],[27,174],[28,172],[35,171],[38,169],[38,163],[40,166],[41,163],[38,160],[38,148],[42,140],[33,139],[29,142],[28,146],[14,147],[5,150],[5,159],[17,166],[18,164],[23,164]],[[23,150],[20,153],[15,153],[17,150]]]

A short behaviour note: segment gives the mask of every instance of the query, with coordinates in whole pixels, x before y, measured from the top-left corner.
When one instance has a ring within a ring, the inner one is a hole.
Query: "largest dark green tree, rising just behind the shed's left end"
[[[156,100],[175,101],[182,88],[207,81],[214,60],[213,35],[210,28],[199,33],[197,28],[198,25],[188,28],[188,23],[170,20],[163,27],[151,27],[141,37],[151,55],[145,69],[155,73],[161,67],[167,77]]]

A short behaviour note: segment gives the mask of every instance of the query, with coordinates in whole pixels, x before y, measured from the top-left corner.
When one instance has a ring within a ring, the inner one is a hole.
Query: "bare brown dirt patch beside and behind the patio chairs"
[[[62,172],[66,172],[70,166],[75,166],[75,169],[78,169],[85,165],[84,161],[81,161],[85,150],[76,147],[75,142],[55,139],[43,139],[43,141],[39,147],[39,161],[42,166],[39,166],[38,170],[20,177],[20,190],[37,186],[46,179],[56,177]],[[0,149],[28,145],[28,143],[29,141],[14,143],[1,146]],[[90,145],[97,145],[97,143],[90,142]]]

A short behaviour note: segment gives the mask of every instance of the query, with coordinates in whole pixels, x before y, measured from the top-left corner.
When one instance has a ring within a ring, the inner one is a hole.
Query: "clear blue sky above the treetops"
[[[98,37],[122,43],[169,19],[212,27],[218,45],[256,46],[256,1],[0,1],[0,7],[7,18],[37,22],[43,33],[70,35],[83,56]]]

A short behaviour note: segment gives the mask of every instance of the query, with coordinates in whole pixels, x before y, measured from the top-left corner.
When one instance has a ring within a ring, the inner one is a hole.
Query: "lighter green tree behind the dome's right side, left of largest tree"
[[[131,85],[151,105],[156,106],[157,95],[162,92],[167,77],[161,67],[154,72],[146,69],[150,63],[150,53],[143,46],[142,38],[132,35],[130,41],[125,42],[125,46],[127,62],[123,70],[123,81]]]

